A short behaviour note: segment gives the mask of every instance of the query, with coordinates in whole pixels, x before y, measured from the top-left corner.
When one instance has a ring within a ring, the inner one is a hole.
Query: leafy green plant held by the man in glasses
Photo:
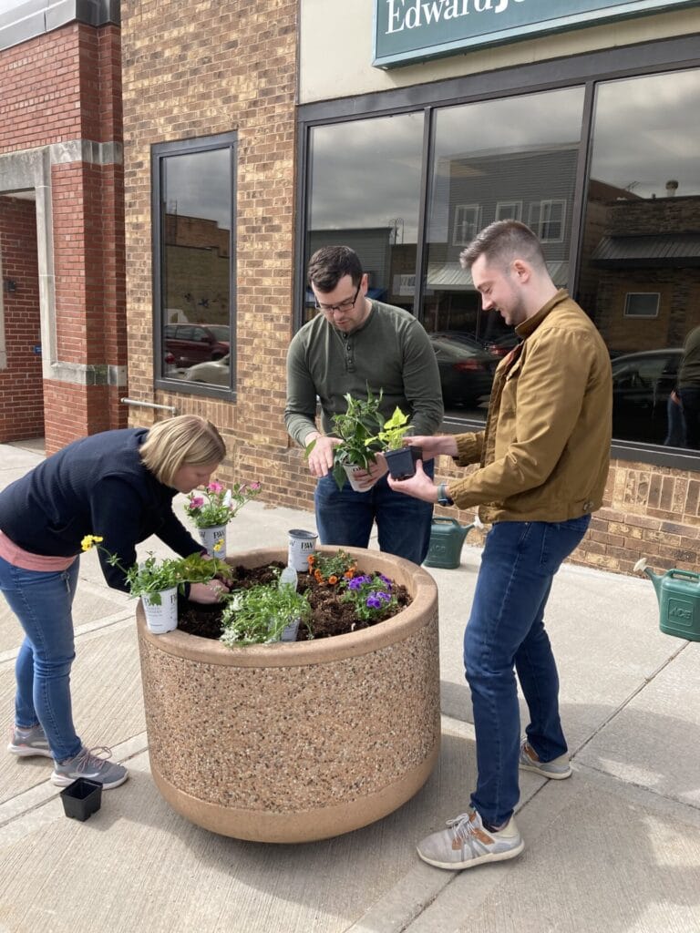
[[[367,398],[354,398],[347,393],[343,396],[346,403],[346,411],[341,414],[334,414],[333,432],[340,438],[340,444],[333,448],[333,479],[338,488],[343,489],[346,480],[345,466],[361,466],[367,469],[371,464],[376,463],[374,454],[380,450],[380,443],[373,437],[377,428],[384,425],[384,415],[380,411],[382,403],[382,390],[379,395],[371,393],[367,389]],[[315,440],[307,445],[304,456],[307,456],[314,450]]]

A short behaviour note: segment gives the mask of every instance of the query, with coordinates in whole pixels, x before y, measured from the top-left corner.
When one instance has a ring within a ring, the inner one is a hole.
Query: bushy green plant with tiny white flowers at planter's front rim
[[[307,623],[311,606],[306,593],[297,592],[279,581],[263,583],[249,590],[232,592],[221,613],[221,641],[228,648],[270,645],[278,642],[294,620]],[[311,632],[309,633],[311,634]]]

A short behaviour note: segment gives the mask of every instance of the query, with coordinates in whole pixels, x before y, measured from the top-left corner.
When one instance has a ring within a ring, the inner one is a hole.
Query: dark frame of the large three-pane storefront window
[[[515,97],[538,91],[553,91],[559,88],[581,86],[584,88],[581,146],[577,166],[577,182],[574,200],[567,207],[571,214],[571,263],[569,287],[572,292],[579,278],[581,244],[584,226],[584,204],[587,185],[587,160],[595,104],[595,85],[604,81],[624,77],[643,77],[686,68],[700,67],[697,54],[697,35],[684,35],[659,39],[651,42],[621,46],[615,49],[600,49],[581,55],[514,65],[497,71],[483,72],[464,77],[448,78],[417,86],[392,91],[375,91],[326,100],[312,104],[301,104],[298,109],[297,158],[299,184],[297,186],[295,239],[295,307],[294,329],[303,323],[303,294],[306,272],[304,261],[304,236],[306,233],[306,207],[310,194],[310,134],[315,126],[346,122],[361,118],[377,118],[399,113],[423,111],[425,119],[423,177],[420,191],[418,243],[416,250],[415,281],[421,283],[425,273],[425,221],[427,208],[428,174],[431,162],[431,127],[436,109],[455,104],[471,104]],[[414,299],[416,316],[423,319],[423,300],[419,292]],[[443,428],[449,433],[465,430],[483,430],[483,421],[448,416]],[[615,440],[611,445],[611,456],[637,463],[657,466],[673,466],[679,469],[700,472],[700,453],[671,453],[663,447],[637,441]]]

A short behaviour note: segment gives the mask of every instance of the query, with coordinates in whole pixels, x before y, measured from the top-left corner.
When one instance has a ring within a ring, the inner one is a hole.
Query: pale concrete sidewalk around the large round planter
[[[0,445],[0,488],[41,455]],[[230,552],[285,548],[293,527],[313,528],[313,514],[250,503]],[[139,550],[165,552],[156,540]],[[700,931],[700,645],[659,632],[645,579],[576,566],[556,578],[547,624],[575,773],[522,775],[523,855],[461,873],[415,855],[418,839],[464,812],[474,782],[461,643],[479,559],[468,538],[459,568],[428,568],[440,590],[443,742],[426,786],[366,829],[293,846],[217,836],[162,801],[148,771],[135,603],[107,589],[93,553],[81,558],[75,719],[131,779],[78,823],[63,815],[49,759],[0,755],[0,933]],[[20,641],[3,600],[7,725]]]

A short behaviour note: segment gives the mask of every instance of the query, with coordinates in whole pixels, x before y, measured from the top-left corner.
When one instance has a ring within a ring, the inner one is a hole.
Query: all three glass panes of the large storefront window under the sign
[[[700,449],[700,330],[698,385],[679,383],[700,327],[700,71],[572,75],[565,88],[469,103],[441,90],[410,114],[311,127],[305,262],[322,244],[354,246],[373,295],[426,327],[449,420],[481,421],[517,336],[483,313],[459,254],[494,220],[522,220],[608,345],[613,438]]]

